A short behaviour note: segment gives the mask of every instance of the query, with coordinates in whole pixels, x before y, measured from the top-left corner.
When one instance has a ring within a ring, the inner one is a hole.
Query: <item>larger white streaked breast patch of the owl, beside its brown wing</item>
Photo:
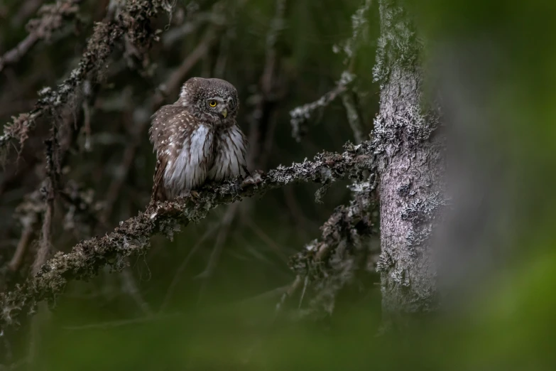
[[[205,183],[212,159],[213,139],[212,129],[202,124],[189,137],[185,137],[175,163],[168,163],[164,173],[165,187],[170,197]]]

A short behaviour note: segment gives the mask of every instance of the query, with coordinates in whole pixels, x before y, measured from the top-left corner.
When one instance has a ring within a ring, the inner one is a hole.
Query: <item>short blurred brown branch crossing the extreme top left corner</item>
[[[13,63],[17,63],[39,40],[48,40],[54,31],[63,26],[64,19],[74,18],[82,0],[58,0],[54,4],[46,4],[38,9],[40,18],[31,19],[27,23],[29,34],[0,57],[0,71]]]

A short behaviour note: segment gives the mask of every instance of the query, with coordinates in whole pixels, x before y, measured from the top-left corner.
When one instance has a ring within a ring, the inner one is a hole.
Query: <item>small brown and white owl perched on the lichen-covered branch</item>
[[[247,139],[236,123],[238,107],[234,85],[192,77],[177,102],[153,114],[154,200],[173,200],[205,181],[246,175]]]

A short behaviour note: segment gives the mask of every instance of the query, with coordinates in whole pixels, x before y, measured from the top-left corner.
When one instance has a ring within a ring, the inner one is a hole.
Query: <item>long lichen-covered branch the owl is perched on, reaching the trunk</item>
[[[290,183],[329,184],[345,178],[360,179],[373,167],[374,150],[366,141],[359,146],[348,144],[342,154],[318,154],[313,161],[279,166],[262,175],[254,173],[243,181],[206,185],[197,195],[173,203],[151,204],[144,213],[120,222],[113,232],[82,241],[67,254],[58,252],[36,276],[13,291],[0,294],[0,328],[17,325],[23,316],[34,313],[40,301],[55,301],[72,279],[91,279],[104,266],[120,271],[126,257],[146,253],[151,236],[163,233],[171,237],[180,227],[201,220],[219,205]]]

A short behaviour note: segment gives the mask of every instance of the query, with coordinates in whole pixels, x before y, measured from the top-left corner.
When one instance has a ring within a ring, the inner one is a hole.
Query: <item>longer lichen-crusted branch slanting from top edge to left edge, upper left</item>
[[[85,53],[79,66],[70,72],[57,89],[46,87],[40,90],[40,100],[31,112],[19,114],[4,126],[4,134],[0,135],[0,152],[6,151],[9,142],[16,140],[20,146],[27,139],[28,131],[33,127],[36,119],[50,110],[65,104],[75,91],[87,79],[89,74],[105,68],[105,62],[111,54],[116,41],[126,35],[127,40],[140,50],[148,47],[158,38],[151,29],[150,18],[160,9],[160,1],[130,0],[126,8],[119,14],[116,21],[97,23],[92,36],[89,38]],[[96,81],[95,78],[91,78]]]

